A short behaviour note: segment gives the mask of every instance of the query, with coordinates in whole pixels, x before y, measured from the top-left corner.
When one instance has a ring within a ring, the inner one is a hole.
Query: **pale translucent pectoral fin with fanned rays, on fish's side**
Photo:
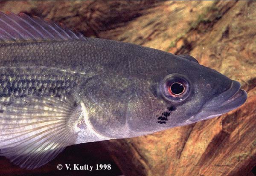
[[[54,159],[76,140],[81,107],[52,97],[17,99],[0,110],[0,155],[34,169]]]

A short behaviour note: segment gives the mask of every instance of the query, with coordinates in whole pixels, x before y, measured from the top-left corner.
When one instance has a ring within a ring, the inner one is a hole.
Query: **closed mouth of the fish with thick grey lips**
[[[196,115],[189,118],[189,121],[200,121],[221,114],[227,113],[240,107],[247,99],[247,93],[240,89],[241,84],[238,81],[232,81],[230,88],[212,98],[201,107],[201,110]]]

